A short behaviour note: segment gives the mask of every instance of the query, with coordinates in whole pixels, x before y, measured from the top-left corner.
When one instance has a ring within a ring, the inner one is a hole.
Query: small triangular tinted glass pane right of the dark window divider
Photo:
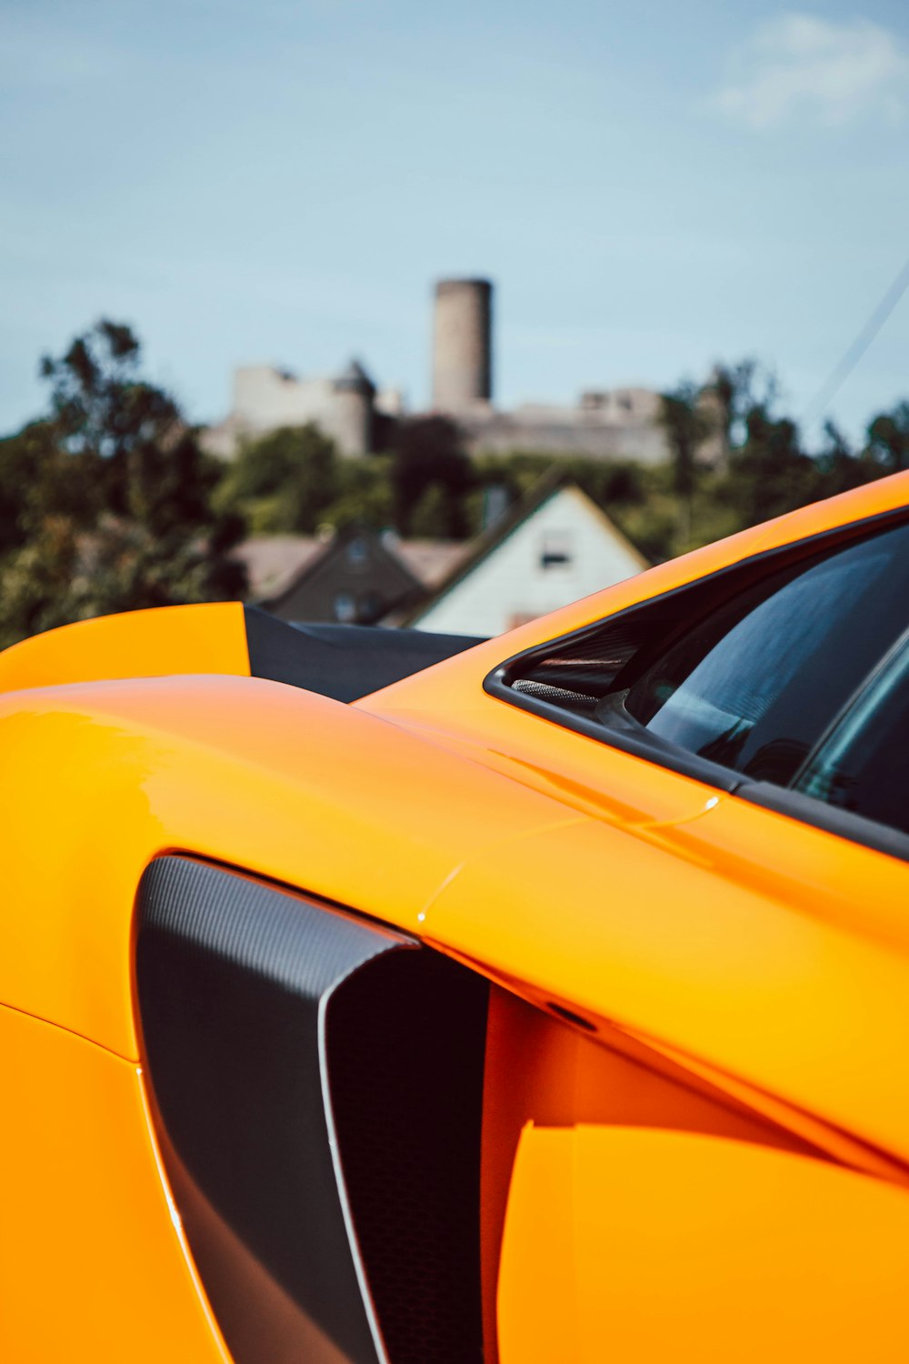
[[[795,790],[909,833],[909,642],[819,746]]]

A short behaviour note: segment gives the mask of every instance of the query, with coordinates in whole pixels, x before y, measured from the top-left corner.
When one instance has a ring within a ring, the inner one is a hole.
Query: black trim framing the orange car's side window
[[[548,656],[553,647],[570,647],[575,642],[583,642],[586,638],[596,636],[606,622],[621,621],[623,617],[630,617],[657,603],[675,600],[694,588],[715,584],[718,592],[721,592],[724,584],[730,577],[741,580],[736,581],[736,592],[745,591],[752,582],[774,572],[774,569],[784,569],[792,563],[797,563],[803,558],[811,558],[819,550],[845,547],[852,540],[863,539],[876,531],[890,529],[905,521],[909,521],[909,506],[904,505],[886,512],[878,512],[859,521],[849,521],[829,531],[819,531],[815,535],[792,540],[788,544],[760,550],[722,569],[717,569],[714,573],[695,577],[690,582],[671,588],[668,592],[658,592],[651,597],[645,597],[641,602],[634,602],[631,606],[621,607],[619,611],[601,617],[590,625],[583,625],[576,630],[570,630],[567,634],[545,640],[542,644],[534,644],[529,649],[522,649],[521,653],[512,653],[484,678],[482,690],[487,696],[514,705],[519,711],[526,711],[540,719],[549,720],[553,724],[559,724],[561,728],[574,730],[576,734],[596,739],[606,747],[619,749],[619,752],[628,753],[632,757],[656,762],[658,767],[677,772],[680,776],[692,777],[717,791],[724,791],[726,795],[736,795],[743,801],[750,801],[752,805],[789,816],[801,824],[810,824],[827,833],[849,839],[852,843],[860,843],[876,853],[909,861],[909,835],[901,833],[898,829],[891,829],[864,816],[853,814],[850,810],[826,805],[815,797],[804,795],[789,787],[773,786],[769,782],[755,782],[740,772],[721,767],[718,762],[702,758],[696,753],[688,753],[675,743],[658,739],[645,730],[643,726],[638,726],[631,716],[627,717],[627,724],[619,723],[615,727],[606,727],[598,720],[586,715],[575,715],[542,697],[517,692],[512,685],[518,681],[523,670],[533,666],[536,660]],[[879,660],[875,663],[875,668],[878,666]],[[867,681],[867,677],[863,678],[853,694],[857,694],[865,686]]]

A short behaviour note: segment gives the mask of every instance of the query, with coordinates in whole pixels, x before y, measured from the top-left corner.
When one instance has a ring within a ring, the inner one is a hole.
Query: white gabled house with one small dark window
[[[647,567],[576,484],[545,477],[405,623],[448,634],[503,634]]]

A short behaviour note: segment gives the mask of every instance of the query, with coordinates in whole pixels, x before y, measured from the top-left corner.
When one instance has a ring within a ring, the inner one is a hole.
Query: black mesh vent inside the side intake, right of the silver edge
[[[392,1364],[474,1364],[488,988],[432,952],[352,977],[328,1008],[341,1163]]]

